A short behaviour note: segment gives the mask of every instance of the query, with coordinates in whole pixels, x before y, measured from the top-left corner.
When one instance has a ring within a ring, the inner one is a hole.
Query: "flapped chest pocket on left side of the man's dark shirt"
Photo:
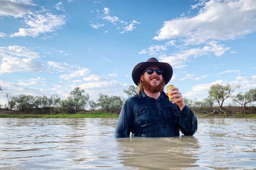
[[[140,127],[146,127],[151,124],[157,123],[151,107],[144,107],[135,110],[135,116],[138,120],[138,124],[140,125]]]

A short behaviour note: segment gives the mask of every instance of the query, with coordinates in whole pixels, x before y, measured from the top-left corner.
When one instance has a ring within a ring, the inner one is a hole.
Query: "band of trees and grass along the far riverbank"
[[[197,101],[197,99],[192,101],[184,97],[184,102],[196,114],[203,116],[255,116],[256,109],[250,109],[248,105],[253,106],[256,101],[256,88],[234,95],[234,90],[240,87],[241,85],[235,84],[214,84],[210,87],[208,96],[202,101]],[[137,92],[138,87],[134,85],[129,85],[128,89],[124,89],[128,98],[136,95]],[[101,93],[96,101],[90,100],[89,94],[79,87],[74,88],[63,100],[58,95],[34,97],[26,94],[12,96],[5,93],[5,97],[7,103],[0,104],[0,108],[3,106],[2,110],[8,113],[1,112],[1,117],[118,117],[126,100],[121,96],[108,96]],[[233,98],[233,103],[224,106],[227,98]],[[236,107],[235,110],[234,107]]]

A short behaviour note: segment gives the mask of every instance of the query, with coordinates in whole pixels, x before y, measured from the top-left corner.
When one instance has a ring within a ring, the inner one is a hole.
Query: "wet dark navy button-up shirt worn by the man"
[[[125,101],[115,137],[144,136],[170,137],[194,135],[197,131],[197,117],[186,105],[181,111],[177,104],[169,101],[168,96],[161,92],[157,100],[147,96],[144,91]]]

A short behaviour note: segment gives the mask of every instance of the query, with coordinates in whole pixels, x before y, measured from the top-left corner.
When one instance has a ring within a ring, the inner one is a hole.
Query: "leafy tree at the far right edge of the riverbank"
[[[247,114],[246,104],[256,101],[256,88],[250,89],[249,91],[247,91],[245,93],[239,92],[233,98],[233,101],[239,103],[243,107],[244,114]]]

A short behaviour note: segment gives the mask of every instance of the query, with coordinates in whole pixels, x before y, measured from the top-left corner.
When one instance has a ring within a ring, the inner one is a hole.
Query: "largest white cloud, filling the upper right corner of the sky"
[[[155,40],[184,37],[187,44],[232,40],[255,31],[255,1],[205,1],[194,17],[165,21]]]

